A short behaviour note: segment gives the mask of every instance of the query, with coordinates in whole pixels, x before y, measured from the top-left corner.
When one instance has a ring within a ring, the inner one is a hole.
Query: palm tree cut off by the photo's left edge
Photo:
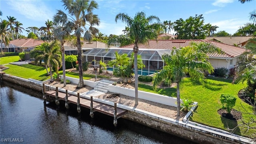
[[[8,25],[9,25],[9,22],[7,20],[1,19],[1,22],[0,22],[1,55],[2,55],[2,51],[3,51],[2,43],[4,43],[4,45],[8,48],[8,45],[10,42],[10,40],[8,38],[8,35],[10,34],[8,32],[9,28],[7,28]]]

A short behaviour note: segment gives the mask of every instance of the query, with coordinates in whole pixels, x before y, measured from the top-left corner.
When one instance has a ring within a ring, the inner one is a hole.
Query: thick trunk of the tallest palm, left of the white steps
[[[84,87],[84,80],[83,80],[83,69],[82,69],[82,48],[80,42],[80,36],[76,37],[77,40],[77,50],[78,50],[78,72],[79,72],[79,83],[77,88]]]

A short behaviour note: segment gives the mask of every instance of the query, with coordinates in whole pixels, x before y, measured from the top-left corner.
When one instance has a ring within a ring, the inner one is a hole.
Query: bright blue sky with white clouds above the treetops
[[[134,16],[136,12],[143,11],[146,16],[158,16],[163,22],[172,22],[196,14],[203,14],[205,24],[216,25],[220,30],[234,34],[239,26],[249,21],[249,13],[256,9],[256,0],[241,4],[238,0],[96,0],[99,8],[94,10],[100,18],[98,29],[103,34],[122,34],[125,24],[120,20],[116,23],[118,13],[127,13]],[[56,10],[64,10],[60,0],[1,0],[2,20],[6,16],[14,16],[26,29],[30,26],[40,28],[45,22],[52,20]],[[171,34],[173,34],[171,32]],[[27,36],[24,30],[23,35]]]

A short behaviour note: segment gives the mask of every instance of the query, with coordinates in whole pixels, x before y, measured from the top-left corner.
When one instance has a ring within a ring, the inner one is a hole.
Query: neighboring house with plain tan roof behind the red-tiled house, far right
[[[232,46],[237,45],[242,48],[250,38],[252,37],[251,36],[209,36],[209,37],[206,37],[206,40],[222,42],[224,44],[229,44]]]

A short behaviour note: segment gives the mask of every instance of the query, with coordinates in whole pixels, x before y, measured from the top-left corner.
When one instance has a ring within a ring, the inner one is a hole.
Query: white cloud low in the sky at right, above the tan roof
[[[221,30],[225,30],[229,34],[234,34],[239,26],[243,26],[247,21],[239,20],[239,19],[230,19],[230,20],[222,20],[218,22],[212,22],[212,26],[218,26],[217,32]]]

